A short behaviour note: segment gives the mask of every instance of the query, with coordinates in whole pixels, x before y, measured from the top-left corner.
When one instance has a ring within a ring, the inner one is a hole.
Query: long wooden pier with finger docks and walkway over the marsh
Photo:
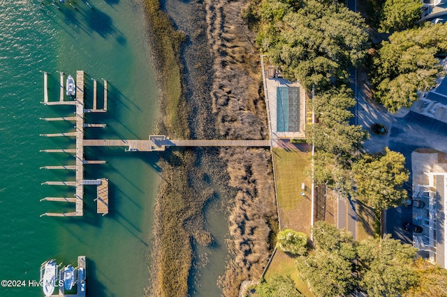
[[[62,201],[75,203],[75,211],[71,213],[44,213],[48,216],[71,217],[82,216],[84,214],[84,186],[96,185],[96,212],[103,215],[108,213],[108,179],[98,178],[96,180],[84,179],[84,165],[103,164],[101,160],[85,160],[84,146],[125,146],[126,151],[164,151],[170,146],[249,146],[249,147],[270,147],[270,140],[214,140],[214,139],[169,139],[165,135],[149,135],[148,139],[84,139],[85,128],[102,128],[105,124],[85,123],[84,115],[87,112],[107,112],[108,82],[103,79],[104,102],[103,108],[98,109],[97,104],[97,82],[93,80],[94,101],[93,108],[85,107],[84,94],[84,71],[76,71],[76,97],[75,100],[64,100],[64,73],[60,73],[61,91],[59,100],[50,101],[47,92],[47,73],[44,73],[44,100],[45,105],[75,105],[75,116],[59,118],[41,118],[44,121],[75,121],[75,131],[52,134],[41,134],[43,137],[75,137],[76,148],[56,148],[41,150],[45,153],[75,153],[75,165],[43,166],[42,169],[68,169],[75,170],[75,181],[46,181],[45,185],[66,185],[75,187],[75,197],[46,197],[43,201]]]

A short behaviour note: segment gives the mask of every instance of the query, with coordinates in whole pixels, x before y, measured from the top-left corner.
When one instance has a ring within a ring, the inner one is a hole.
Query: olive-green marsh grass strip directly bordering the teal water
[[[173,29],[168,15],[160,10],[159,0],[146,0],[145,9],[161,93],[162,117],[156,132],[187,139],[189,111],[184,102],[183,68],[179,57],[185,36]],[[206,190],[202,181],[191,188],[189,173],[198,170],[193,167],[196,153],[192,150],[170,149],[160,157],[162,181],[155,206],[152,279],[147,294],[185,296],[193,259],[191,242],[207,245],[212,240],[203,230],[203,206],[212,197],[212,190]]]

